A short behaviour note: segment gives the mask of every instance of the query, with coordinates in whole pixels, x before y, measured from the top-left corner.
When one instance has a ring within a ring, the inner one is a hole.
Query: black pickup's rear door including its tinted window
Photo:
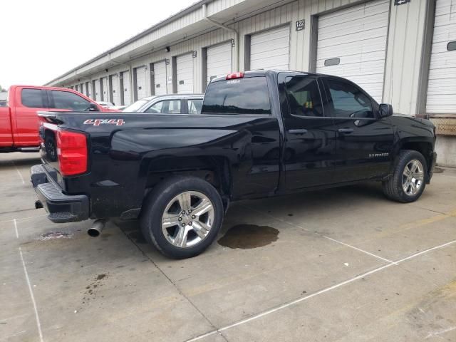
[[[317,80],[280,74],[284,117],[284,165],[287,190],[333,183],[336,133],[325,115]]]

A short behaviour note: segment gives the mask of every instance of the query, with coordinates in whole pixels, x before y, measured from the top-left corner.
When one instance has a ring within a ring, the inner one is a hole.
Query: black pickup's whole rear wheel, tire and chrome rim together
[[[185,259],[209,247],[223,215],[222,199],[212,185],[197,177],[173,176],[147,195],[140,226],[162,254]]]

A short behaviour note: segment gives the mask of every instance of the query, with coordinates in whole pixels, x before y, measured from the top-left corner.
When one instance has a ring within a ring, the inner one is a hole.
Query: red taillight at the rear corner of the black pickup
[[[58,130],[57,155],[63,176],[79,175],[87,171],[87,139],[81,133]]]

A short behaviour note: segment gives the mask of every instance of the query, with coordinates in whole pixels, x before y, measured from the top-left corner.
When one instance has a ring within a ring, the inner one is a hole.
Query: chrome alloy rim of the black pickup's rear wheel
[[[206,195],[186,191],[167,204],[162,232],[175,247],[193,247],[206,239],[214,224],[214,205]]]

